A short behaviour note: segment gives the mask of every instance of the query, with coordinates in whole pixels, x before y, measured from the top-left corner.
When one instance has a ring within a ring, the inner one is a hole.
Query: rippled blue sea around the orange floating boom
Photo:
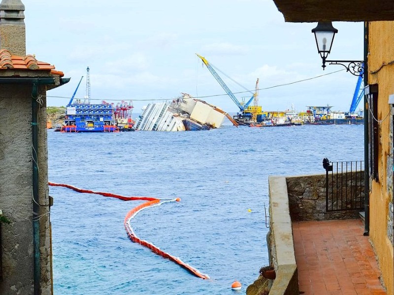
[[[137,236],[210,276],[202,280],[128,238],[142,201],[50,187],[55,295],[240,294],[268,264],[268,176],[324,174],[363,160],[363,125],[191,132],[48,131],[49,181],[124,196],[181,198],[139,212]],[[266,212],[266,213],[265,213]]]

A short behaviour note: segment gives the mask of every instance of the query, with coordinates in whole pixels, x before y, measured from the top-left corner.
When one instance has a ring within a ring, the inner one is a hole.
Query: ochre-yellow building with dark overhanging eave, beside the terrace
[[[364,22],[360,38],[364,39],[364,161],[369,180],[365,181],[364,236],[369,235],[373,245],[387,294],[394,294],[394,2],[273,1],[286,22]],[[310,46],[315,46],[313,41]]]

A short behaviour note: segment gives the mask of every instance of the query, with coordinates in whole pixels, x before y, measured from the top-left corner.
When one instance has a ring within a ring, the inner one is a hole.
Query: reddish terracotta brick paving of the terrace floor
[[[299,291],[381,295],[380,270],[360,219],[293,222]]]

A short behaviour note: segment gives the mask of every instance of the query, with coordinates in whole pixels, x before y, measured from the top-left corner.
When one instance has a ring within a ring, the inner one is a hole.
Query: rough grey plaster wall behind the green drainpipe
[[[45,93],[40,87],[39,93]],[[32,86],[0,85],[0,209],[3,224],[0,294],[33,294]],[[39,111],[41,294],[52,294],[49,241],[46,98]]]

